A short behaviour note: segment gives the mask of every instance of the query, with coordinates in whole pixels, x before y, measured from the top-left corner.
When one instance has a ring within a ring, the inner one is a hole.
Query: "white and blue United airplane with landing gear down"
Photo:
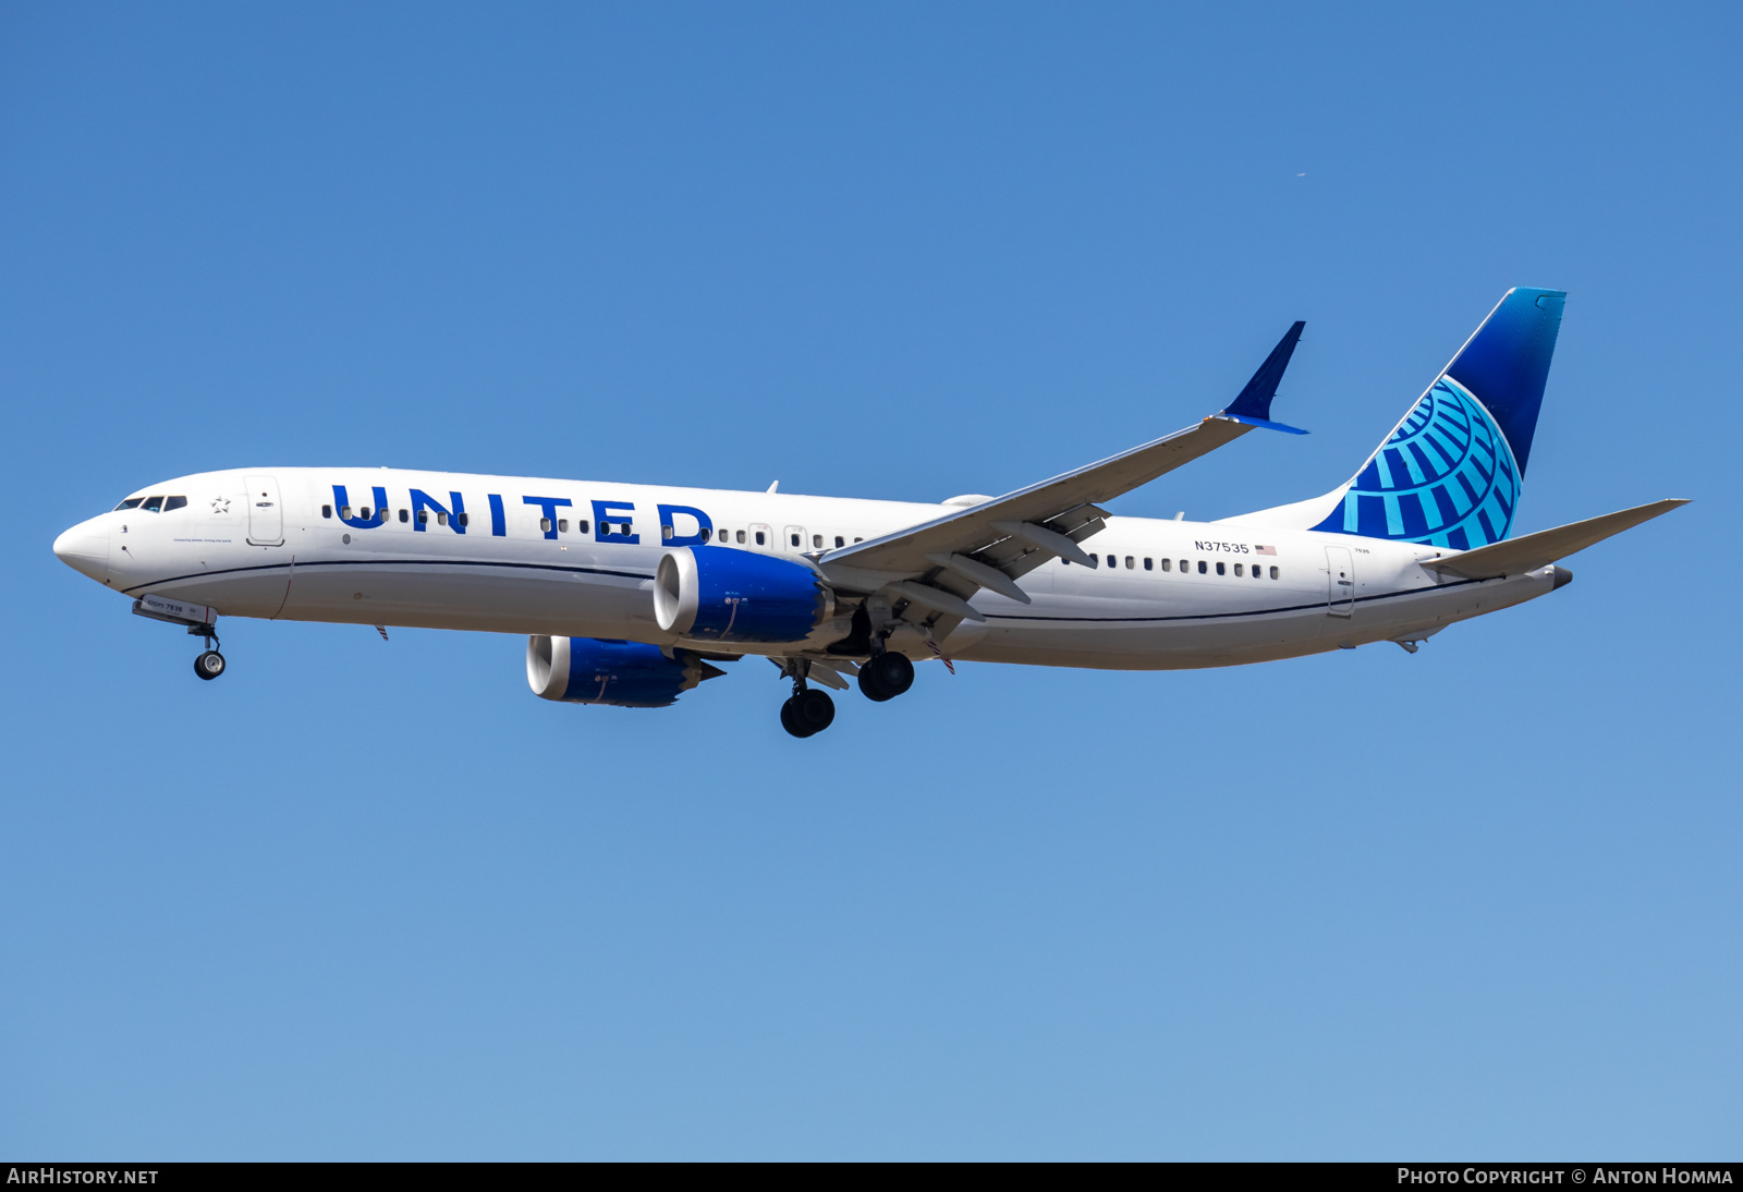
[[[781,725],[830,690],[906,692],[915,660],[1117,671],[1241,666],[1393,641],[1567,584],[1565,556],[1659,500],[1509,537],[1563,291],[1509,289],[1356,474],[1220,521],[1119,518],[1121,493],[1271,418],[1295,322],[1197,425],[1004,497],[938,505],[363,467],[249,467],[136,490],[54,554],[204,638],[218,619],[526,634],[535,695],[662,708],[762,655]]]

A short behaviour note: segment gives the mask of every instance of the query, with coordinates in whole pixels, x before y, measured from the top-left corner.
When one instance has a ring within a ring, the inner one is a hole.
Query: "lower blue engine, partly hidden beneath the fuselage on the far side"
[[[702,680],[725,674],[688,650],[607,638],[526,640],[526,685],[540,699],[617,708],[664,708]]]

